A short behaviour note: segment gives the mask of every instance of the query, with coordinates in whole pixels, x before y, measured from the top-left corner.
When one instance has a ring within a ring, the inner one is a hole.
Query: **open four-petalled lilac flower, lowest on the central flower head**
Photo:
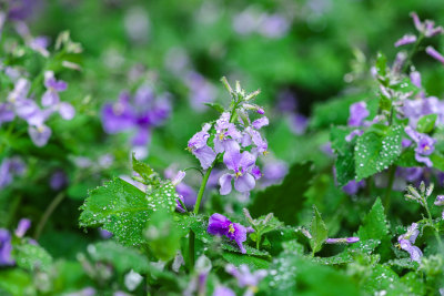
[[[226,195],[231,192],[231,181],[234,178],[234,188],[241,193],[250,192],[254,188],[255,178],[251,174],[256,159],[248,151],[240,152],[240,150],[226,151],[223,155],[223,163],[233,173],[223,174],[219,184],[221,185],[220,193]]]

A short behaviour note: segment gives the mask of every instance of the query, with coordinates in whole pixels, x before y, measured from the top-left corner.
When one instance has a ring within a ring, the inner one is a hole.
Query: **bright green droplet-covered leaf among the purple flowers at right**
[[[354,157],[357,181],[386,170],[402,152],[401,125],[376,126],[357,139]]]

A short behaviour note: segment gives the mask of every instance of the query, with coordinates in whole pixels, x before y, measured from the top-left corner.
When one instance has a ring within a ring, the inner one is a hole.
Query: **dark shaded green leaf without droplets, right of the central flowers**
[[[305,200],[304,193],[314,176],[312,163],[293,164],[281,185],[259,192],[249,210],[252,216],[273,213],[280,221],[294,225]]]

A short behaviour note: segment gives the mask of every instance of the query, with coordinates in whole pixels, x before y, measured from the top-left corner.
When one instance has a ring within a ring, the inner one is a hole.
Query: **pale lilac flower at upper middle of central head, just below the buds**
[[[265,118],[266,119],[266,118]],[[259,126],[261,123],[256,123]],[[235,149],[242,135],[235,127],[234,123],[230,123],[230,113],[222,113],[221,118],[215,122],[216,134],[214,136],[214,151],[223,153],[225,150]]]

